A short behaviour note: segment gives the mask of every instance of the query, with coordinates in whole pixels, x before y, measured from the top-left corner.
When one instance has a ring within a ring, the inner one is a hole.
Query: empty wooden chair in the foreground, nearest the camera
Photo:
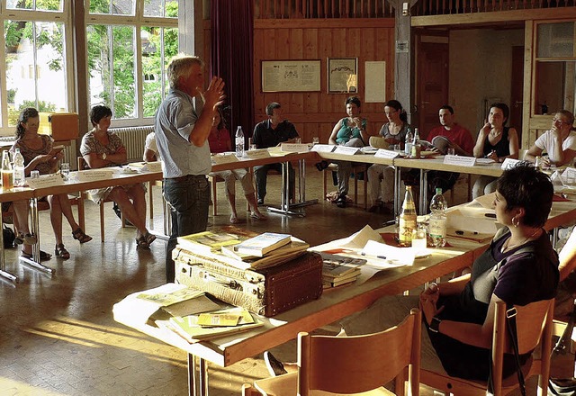
[[[298,334],[298,372],[243,386],[248,395],[316,394],[311,390],[362,395],[392,394],[383,385],[395,379],[396,394],[419,395],[421,313],[417,309],[398,326],[354,337]]]

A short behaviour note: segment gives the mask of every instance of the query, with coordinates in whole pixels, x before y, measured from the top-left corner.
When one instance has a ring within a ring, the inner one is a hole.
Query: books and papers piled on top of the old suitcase
[[[310,247],[288,234],[257,234],[234,227],[178,237],[177,241],[175,260],[185,254],[200,264],[217,262],[241,270],[277,266],[302,255]]]

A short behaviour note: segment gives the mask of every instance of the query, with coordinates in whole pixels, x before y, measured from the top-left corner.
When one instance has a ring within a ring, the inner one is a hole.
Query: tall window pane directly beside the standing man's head
[[[166,93],[164,71],[170,58],[178,51],[178,30],[176,28],[145,27],[140,32],[142,38],[142,90],[143,116],[152,117]]]

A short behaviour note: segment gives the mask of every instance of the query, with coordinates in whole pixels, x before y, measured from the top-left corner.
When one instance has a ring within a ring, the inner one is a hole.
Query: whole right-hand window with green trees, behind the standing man
[[[142,15],[135,6],[130,0],[90,2],[90,106],[110,106],[120,121],[115,125],[154,116],[166,95],[167,62],[178,51],[177,1],[146,0]]]

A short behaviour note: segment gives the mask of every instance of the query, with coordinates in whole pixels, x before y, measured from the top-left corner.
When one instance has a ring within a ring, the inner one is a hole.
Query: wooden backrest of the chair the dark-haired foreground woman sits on
[[[532,302],[525,306],[515,306],[518,333],[518,353],[526,354],[539,345],[542,348],[538,360],[541,381],[548,383],[550,371],[550,352],[552,350],[552,327],[554,316],[554,299]],[[500,394],[502,386],[503,353],[513,353],[507,329],[506,303],[497,302],[492,336],[492,373],[494,394]],[[533,362],[534,364],[534,362]],[[531,370],[532,371],[532,370]],[[547,386],[547,385],[544,385]]]

